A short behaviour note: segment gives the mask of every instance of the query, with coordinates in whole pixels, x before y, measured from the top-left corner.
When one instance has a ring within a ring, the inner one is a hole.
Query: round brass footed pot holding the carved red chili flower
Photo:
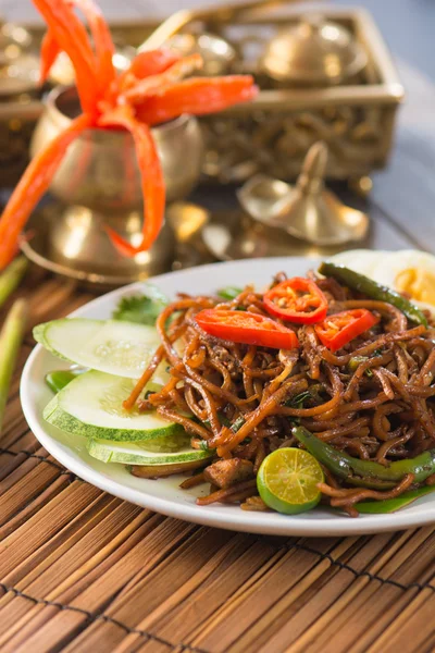
[[[79,111],[73,87],[57,87],[47,98],[35,130],[30,155],[35,156],[64,130]],[[166,199],[185,198],[199,180],[202,135],[190,115],[154,127]],[[166,223],[147,252],[129,259],[120,256],[103,225],[110,225],[132,244],[140,242],[142,193],[132,136],[114,130],[88,130],[69,148],[50,192],[66,209],[51,221],[49,257],[57,263],[89,274],[105,274],[129,281],[169,270],[175,238]]]

